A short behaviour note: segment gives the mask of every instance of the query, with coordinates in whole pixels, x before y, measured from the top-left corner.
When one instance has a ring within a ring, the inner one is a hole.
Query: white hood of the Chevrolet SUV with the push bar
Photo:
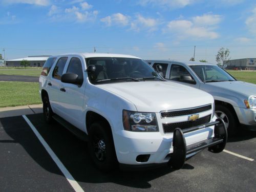
[[[213,103],[213,97],[195,88],[169,81],[98,84],[97,87],[132,102],[139,112],[194,108]]]

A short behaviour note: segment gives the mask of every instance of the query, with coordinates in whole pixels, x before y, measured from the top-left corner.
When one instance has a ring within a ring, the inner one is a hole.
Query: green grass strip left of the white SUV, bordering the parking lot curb
[[[39,104],[41,99],[38,90],[37,82],[0,81],[0,108]]]

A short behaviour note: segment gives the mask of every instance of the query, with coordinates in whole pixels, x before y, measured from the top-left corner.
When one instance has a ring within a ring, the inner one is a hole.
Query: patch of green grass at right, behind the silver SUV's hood
[[[227,70],[234,78],[240,81],[251,82],[256,84],[256,71],[234,71]]]

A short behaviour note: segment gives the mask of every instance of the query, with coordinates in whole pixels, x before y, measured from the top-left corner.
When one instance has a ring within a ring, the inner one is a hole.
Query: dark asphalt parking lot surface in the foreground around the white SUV
[[[180,170],[102,173],[90,161],[87,143],[42,114],[27,115],[84,191],[255,191],[256,132],[241,131],[229,138],[226,150],[249,161],[207,150],[186,161]],[[73,188],[22,116],[0,118],[0,191],[72,191]]]

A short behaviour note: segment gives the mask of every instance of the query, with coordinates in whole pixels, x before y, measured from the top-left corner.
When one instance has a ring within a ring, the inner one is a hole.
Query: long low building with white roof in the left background
[[[28,56],[25,58],[6,60],[7,67],[21,67],[20,62],[27,60],[30,62],[30,67],[42,67],[50,55]]]

